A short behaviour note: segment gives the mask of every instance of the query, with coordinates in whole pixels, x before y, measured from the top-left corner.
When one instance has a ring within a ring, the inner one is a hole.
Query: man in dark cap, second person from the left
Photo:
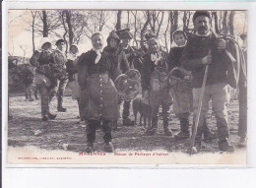
[[[58,87],[55,93],[57,93],[58,106],[57,109],[60,112],[66,112],[67,109],[62,106],[63,103],[63,94],[68,84],[68,74],[66,71],[66,54],[65,54],[65,41],[64,39],[58,39],[56,41],[56,50],[53,51],[54,63],[55,63],[55,73],[58,78]],[[53,97],[54,94],[51,94]]]

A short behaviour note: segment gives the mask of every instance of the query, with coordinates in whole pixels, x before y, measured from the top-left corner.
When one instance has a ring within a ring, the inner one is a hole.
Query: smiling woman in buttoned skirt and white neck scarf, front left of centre
[[[96,128],[100,125],[105,142],[104,151],[113,152],[110,125],[117,121],[119,116],[118,94],[110,77],[117,69],[108,55],[101,52],[102,42],[101,33],[94,33],[92,36],[94,48],[83,53],[78,62],[78,82],[82,90],[81,100],[86,103],[84,111],[88,121],[87,153],[94,151]]]

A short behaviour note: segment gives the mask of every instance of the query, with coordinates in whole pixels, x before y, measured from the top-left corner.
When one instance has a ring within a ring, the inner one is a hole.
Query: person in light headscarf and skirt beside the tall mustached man
[[[181,57],[186,45],[187,39],[184,31],[174,31],[173,41],[176,44],[172,47],[168,55],[169,71],[178,68],[173,72],[173,76],[183,79],[177,85],[171,87],[171,95],[173,97],[173,110],[180,121],[180,132],[175,135],[175,139],[188,139],[189,134],[189,113],[193,109],[193,94],[191,86],[191,74],[181,67]],[[204,122],[204,139],[213,140],[216,136],[211,132]]]

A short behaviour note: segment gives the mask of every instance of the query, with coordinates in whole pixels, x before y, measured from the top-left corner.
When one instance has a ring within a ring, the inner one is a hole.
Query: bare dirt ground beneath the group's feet
[[[8,124],[8,146],[10,147],[36,147],[46,150],[68,150],[72,152],[84,152],[86,144],[86,126],[78,124],[78,104],[73,100],[70,91],[66,91],[64,107],[67,112],[57,112],[56,98],[51,102],[50,110],[57,114],[55,120],[42,122],[40,116],[40,100],[25,101],[24,94],[10,94],[10,112],[13,119]],[[238,103],[236,94],[232,94],[228,105],[230,142],[236,147],[238,142],[237,122]],[[131,111],[131,118],[134,116]],[[119,120],[119,131],[113,132],[113,145],[116,151],[153,151],[165,150],[166,152],[186,152],[189,140],[175,141],[173,136],[164,136],[162,118],[159,121],[159,129],[154,136],[145,136],[142,126],[125,127]],[[190,123],[192,119],[190,118]],[[138,124],[138,123],[137,123]],[[212,110],[208,113],[208,124],[217,133],[216,119]],[[170,111],[169,128],[173,134],[179,131],[179,122],[172,111]],[[96,151],[102,152],[103,139],[101,130],[96,132]],[[244,149],[243,149],[244,150]],[[218,140],[203,143],[203,152],[219,153]]]

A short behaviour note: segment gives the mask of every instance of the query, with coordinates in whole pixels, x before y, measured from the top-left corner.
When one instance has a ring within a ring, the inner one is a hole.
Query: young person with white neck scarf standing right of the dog
[[[146,135],[154,135],[158,128],[158,113],[160,105],[163,115],[163,130],[166,136],[172,133],[168,130],[168,110],[171,105],[171,96],[169,87],[166,83],[161,83],[159,73],[156,68],[165,68],[167,64],[163,61],[160,53],[160,43],[158,38],[149,40],[149,51],[144,56],[142,65],[142,91],[145,99],[149,99],[151,106],[152,126],[148,128]]]

